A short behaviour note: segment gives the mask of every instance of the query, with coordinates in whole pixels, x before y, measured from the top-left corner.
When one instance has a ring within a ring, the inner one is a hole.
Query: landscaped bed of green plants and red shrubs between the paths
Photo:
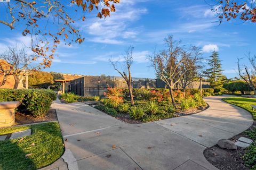
[[[192,114],[206,108],[206,103],[197,93],[173,92],[175,108],[171,103],[167,89],[134,89],[132,106],[126,90],[109,88],[105,99],[95,106],[106,114],[127,123],[142,123],[172,118],[183,114]]]

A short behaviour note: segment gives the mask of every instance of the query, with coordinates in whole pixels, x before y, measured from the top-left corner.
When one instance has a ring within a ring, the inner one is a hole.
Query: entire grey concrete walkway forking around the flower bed
[[[198,114],[143,124],[126,124],[82,103],[52,105],[65,141],[70,169],[217,169],[203,151],[245,131],[252,116],[209,97]],[[63,164],[61,164],[63,165]],[[47,169],[65,169],[53,164]]]

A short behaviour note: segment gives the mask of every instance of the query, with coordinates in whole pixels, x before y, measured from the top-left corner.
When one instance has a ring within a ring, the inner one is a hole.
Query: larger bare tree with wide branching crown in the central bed
[[[165,44],[167,49],[160,53],[155,52],[149,56],[149,60],[156,71],[157,78],[163,80],[169,88],[172,104],[175,106],[173,89],[185,74],[194,69],[194,67],[186,67],[186,65],[188,59],[193,62],[197,61],[199,52],[197,47],[186,49],[181,45],[181,41],[175,41],[172,36],[165,38]],[[193,53],[196,55],[192,56]]]

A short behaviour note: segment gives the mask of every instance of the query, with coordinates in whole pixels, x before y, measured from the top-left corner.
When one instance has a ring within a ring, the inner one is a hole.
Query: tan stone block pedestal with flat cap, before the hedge
[[[15,108],[20,101],[0,102],[0,128],[11,126],[15,123]]]

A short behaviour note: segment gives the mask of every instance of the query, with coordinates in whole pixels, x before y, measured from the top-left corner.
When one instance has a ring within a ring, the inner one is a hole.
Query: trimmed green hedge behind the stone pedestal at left
[[[0,101],[21,101],[20,112],[29,112],[35,117],[44,116],[57,95],[52,90],[0,89]]]

